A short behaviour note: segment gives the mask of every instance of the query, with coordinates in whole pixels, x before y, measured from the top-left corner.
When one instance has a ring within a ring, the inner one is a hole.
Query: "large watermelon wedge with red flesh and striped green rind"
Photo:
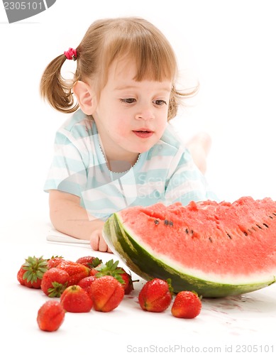
[[[226,297],[276,280],[276,202],[268,197],[129,207],[106,221],[104,238],[145,280],[171,278],[175,293]]]

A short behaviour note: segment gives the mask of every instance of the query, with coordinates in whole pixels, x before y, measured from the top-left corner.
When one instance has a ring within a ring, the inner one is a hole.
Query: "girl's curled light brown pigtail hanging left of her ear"
[[[74,103],[74,82],[65,80],[61,75],[61,68],[66,59],[65,55],[59,55],[45,68],[40,80],[40,95],[57,111],[70,114],[77,111],[79,105]]]

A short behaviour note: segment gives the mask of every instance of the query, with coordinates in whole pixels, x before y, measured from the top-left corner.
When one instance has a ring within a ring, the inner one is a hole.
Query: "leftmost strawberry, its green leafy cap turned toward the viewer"
[[[47,260],[28,256],[17,273],[17,280],[28,288],[40,288],[43,274],[48,270]]]

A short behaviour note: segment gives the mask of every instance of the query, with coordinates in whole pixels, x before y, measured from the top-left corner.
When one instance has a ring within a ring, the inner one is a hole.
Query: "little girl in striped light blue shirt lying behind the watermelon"
[[[77,62],[72,81],[61,75],[65,60]],[[178,92],[176,80],[170,43],[142,18],[96,21],[76,49],[50,62],[40,93],[74,112],[57,131],[45,182],[55,229],[110,252],[101,230],[114,212],[216,198],[200,172],[209,141],[191,145],[197,168],[168,124],[180,99],[196,92]]]

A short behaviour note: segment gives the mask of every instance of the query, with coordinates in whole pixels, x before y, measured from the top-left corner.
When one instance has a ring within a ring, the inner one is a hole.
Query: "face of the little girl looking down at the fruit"
[[[93,117],[107,160],[133,164],[157,143],[167,125],[172,82],[133,80],[136,65],[115,60]]]

